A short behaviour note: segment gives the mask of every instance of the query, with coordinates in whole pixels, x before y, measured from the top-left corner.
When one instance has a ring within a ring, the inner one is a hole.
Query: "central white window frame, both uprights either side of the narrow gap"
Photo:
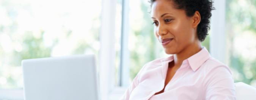
[[[115,12],[116,0],[102,0],[100,49],[100,98],[119,100],[129,86],[129,0],[122,0],[121,55],[119,86],[115,86]]]

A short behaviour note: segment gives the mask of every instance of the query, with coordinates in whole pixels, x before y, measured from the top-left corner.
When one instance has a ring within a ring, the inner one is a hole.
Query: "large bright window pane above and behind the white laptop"
[[[101,0],[0,0],[0,88],[22,88],[23,59],[97,56],[100,14]]]

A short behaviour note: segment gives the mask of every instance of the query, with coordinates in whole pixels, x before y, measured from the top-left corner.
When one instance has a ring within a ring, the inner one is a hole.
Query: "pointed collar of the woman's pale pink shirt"
[[[209,58],[210,58],[210,53],[208,52],[208,50],[205,47],[203,47],[202,50],[200,50],[195,55],[190,56],[188,59],[185,59],[183,62],[188,61],[192,70],[196,71]],[[166,62],[166,61],[171,62],[171,61],[173,61],[173,59],[174,59],[173,55],[171,55],[171,56],[164,58],[160,61],[161,62]]]

